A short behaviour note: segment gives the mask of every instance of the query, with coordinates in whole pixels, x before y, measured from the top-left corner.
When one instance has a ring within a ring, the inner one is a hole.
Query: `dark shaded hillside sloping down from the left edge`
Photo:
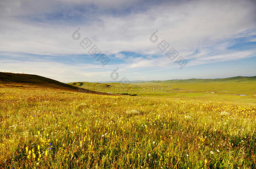
[[[76,86],[71,86],[59,81],[55,81],[50,78],[45,78],[43,76],[38,75],[30,75],[30,74],[22,74],[22,73],[3,73],[0,72],[0,85],[10,86],[10,87],[42,87],[42,88],[57,88],[71,91],[79,91],[79,88]],[[107,94],[101,92],[95,92],[86,90],[86,93],[100,93]]]

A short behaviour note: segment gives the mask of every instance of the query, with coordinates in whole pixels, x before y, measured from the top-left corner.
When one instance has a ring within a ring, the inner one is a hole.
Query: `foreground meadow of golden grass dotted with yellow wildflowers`
[[[247,96],[1,87],[0,168],[256,168],[255,88],[238,90]]]

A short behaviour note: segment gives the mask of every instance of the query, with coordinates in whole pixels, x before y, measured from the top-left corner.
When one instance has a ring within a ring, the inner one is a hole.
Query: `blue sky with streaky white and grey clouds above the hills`
[[[255,0],[1,0],[0,71],[62,82],[256,76]]]

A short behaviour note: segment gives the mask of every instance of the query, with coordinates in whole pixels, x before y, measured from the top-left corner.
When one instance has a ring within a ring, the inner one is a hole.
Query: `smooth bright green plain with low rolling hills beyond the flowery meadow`
[[[151,83],[68,83],[83,90],[233,103],[256,103],[256,77],[152,81]],[[242,96],[241,96],[242,95]]]

